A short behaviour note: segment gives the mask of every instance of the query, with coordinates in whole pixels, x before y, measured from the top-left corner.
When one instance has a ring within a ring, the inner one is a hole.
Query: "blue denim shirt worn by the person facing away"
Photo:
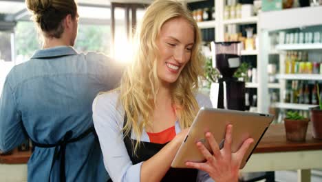
[[[93,125],[92,102],[98,92],[111,90],[120,80],[121,66],[103,54],[78,54],[72,47],[37,50],[14,66],[0,98],[0,150],[8,151],[30,137],[57,143],[72,130],[72,138]],[[59,163],[51,175],[54,148],[36,147],[28,161],[28,181],[59,181]],[[67,181],[107,181],[100,145],[94,134],[68,143]]]

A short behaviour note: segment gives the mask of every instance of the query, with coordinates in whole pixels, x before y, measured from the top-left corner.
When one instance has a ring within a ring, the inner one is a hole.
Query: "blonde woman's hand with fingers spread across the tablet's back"
[[[207,132],[205,134],[206,139],[211,146],[211,150],[213,150],[213,154],[211,154],[211,152],[209,152],[199,141],[196,145],[206,158],[206,162],[186,162],[186,166],[208,172],[209,176],[211,176],[211,178],[216,182],[238,181],[239,166],[241,165],[241,161],[243,160],[250,144],[253,143],[254,140],[251,138],[246,139],[243,145],[241,145],[241,148],[232,154],[232,132],[233,125],[227,125],[224,148],[222,148],[222,150],[219,149],[219,145],[215,141],[213,134],[211,134],[211,132]]]

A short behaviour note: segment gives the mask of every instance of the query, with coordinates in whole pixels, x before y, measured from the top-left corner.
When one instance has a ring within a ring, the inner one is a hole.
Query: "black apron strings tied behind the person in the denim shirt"
[[[95,132],[95,128],[94,128],[94,126],[92,126],[91,128],[87,129],[85,132],[83,132],[81,135],[79,135],[78,137],[76,137],[74,139],[72,139],[73,132],[71,130],[69,130],[63,136],[63,139],[60,139],[55,144],[42,144],[42,143],[36,143],[34,141],[32,141],[32,144],[35,147],[38,147],[38,148],[55,148],[54,156],[52,157],[52,166],[50,168],[50,176],[52,174],[52,168],[54,167],[54,164],[56,163],[56,161],[61,159],[61,163],[60,163],[60,167],[59,167],[59,169],[60,169],[60,171],[59,171],[59,181],[60,182],[65,182],[66,181],[66,175],[65,175],[66,145],[68,143],[74,143],[76,141],[80,141],[81,139],[83,139],[85,136],[87,136],[90,133],[93,133],[95,138],[96,138],[96,141],[98,141],[97,134]],[[50,177],[49,177],[48,181],[50,181]]]

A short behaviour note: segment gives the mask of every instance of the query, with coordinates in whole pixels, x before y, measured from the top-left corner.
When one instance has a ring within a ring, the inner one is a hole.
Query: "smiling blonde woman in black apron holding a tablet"
[[[211,101],[197,94],[203,74],[200,32],[182,3],[154,1],[137,30],[133,63],[120,88],[94,101],[94,126],[103,150],[105,168],[113,181],[237,181],[244,152],[253,139],[231,154],[232,126],[219,150],[206,133],[213,154],[196,145],[205,163],[186,163],[191,169],[170,168],[200,107]]]

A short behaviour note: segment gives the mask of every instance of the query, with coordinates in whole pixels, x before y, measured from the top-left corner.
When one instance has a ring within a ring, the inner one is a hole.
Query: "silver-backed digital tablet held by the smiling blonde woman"
[[[201,108],[193,121],[189,132],[182,142],[175,159],[171,163],[172,168],[186,168],[186,161],[202,162],[204,156],[198,150],[195,143],[201,141],[211,151],[208,141],[205,138],[206,132],[211,132],[217,141],[219,148],[224,145],[226,125],[233,125],[232,152],[236,152],[242,143],[253,138],[244,159],[241,161],[240,169],[244,168],[253,150],[261,140],[274,116],[270,114],[259,114],[237,110],[223,110],[214,108]]]

